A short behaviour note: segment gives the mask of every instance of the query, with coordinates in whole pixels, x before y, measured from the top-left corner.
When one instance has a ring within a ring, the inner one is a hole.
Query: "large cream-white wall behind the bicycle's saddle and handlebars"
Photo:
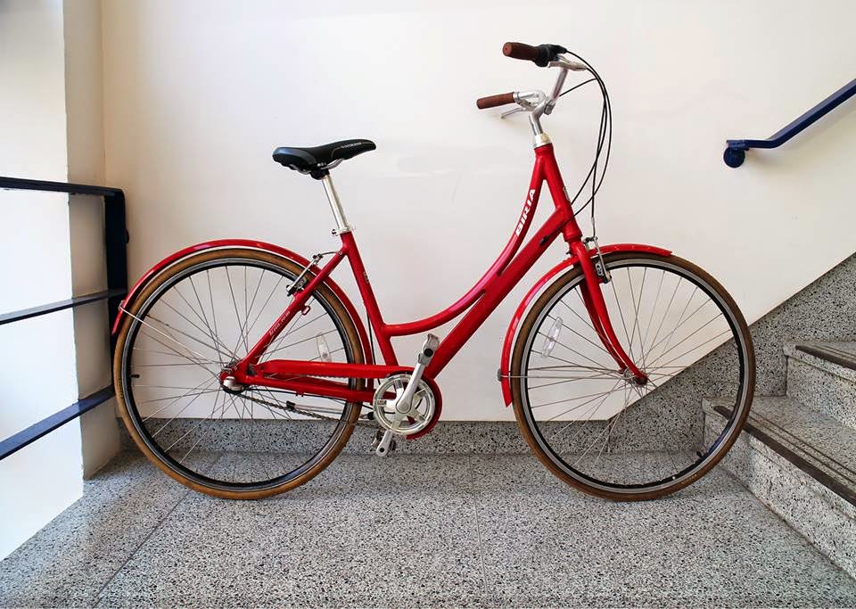
[[[529,180],[527,125],[475,98],[547,89],[552,74],[500,47],[555,42],[588,58],[613,98],[602,242],[672,248],[754,320],[854,250],[856,112],[736,170],[724,140],[768,136],[848,82],[854,19],[856,4],[832,0],[104,3],[106,170],[128,193],[130,274],[226,236],[332,249],[321,187],[270,152],[368,137],[378,150],[333,177],[387,320],[432,314],[502,248]],[[581,90],[545,120],[569,189],[598,103]],[[561,256],[557,244],[539,268]],[[440,376],[444,418],[511,417],[495,373],[522,292]],[[399,358],[419,341],[400,342]]]

